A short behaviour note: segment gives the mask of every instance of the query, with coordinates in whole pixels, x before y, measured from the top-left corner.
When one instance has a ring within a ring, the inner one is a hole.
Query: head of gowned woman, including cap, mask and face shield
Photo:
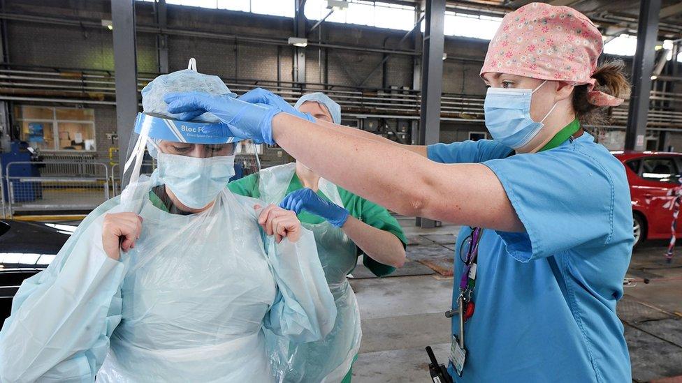
[[[186,70],[161,75],[147,84],[142,90],[145,112],[135,121],[124,164],[128,186],[122,203],[143,200],[143,189],[148,193],[150,187],[163,186],[161,195],[170,197],[173,206],[201,211],[228,181],[260,170],[253,144],[237,142],[214,115],[204,113],[192,121],[180,121],[168,114],[164,97],[178,91],[236,97],[219,77],[197,73],[194,59]],[[136,211],[136,206],[127,209]]]

